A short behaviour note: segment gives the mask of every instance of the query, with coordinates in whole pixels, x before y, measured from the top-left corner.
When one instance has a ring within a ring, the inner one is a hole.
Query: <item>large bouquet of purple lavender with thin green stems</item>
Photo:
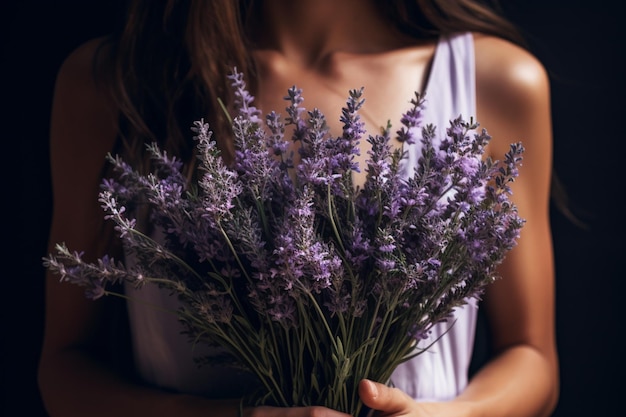
[[[392,147],[387,126],[367,137],[366,179],[355,187],[362,89],[349,92],[343,133],[330,137],[296,87],[287,117],[271,112],[263,121],[242,74],[231,81],[232,166],[203,121],[193,127],[197,184],[156,145],[150,175],[109,155],[119,176],[103,182],[100,201],[136,262],[86,263],[59,244],[44,264],[94,299],[116,294],[111,284],[120,282],[171,290],[192,339],[220,344],[258,377],[254,404],[358,415],[359,380],[388,381],[426,349],[418,342],[432,326],[497,278],[523,225],[508,199],[523,147],[511,145],[503,161],[483,158],[489,136],[461,118],[434,146],[416,94],[396,136],[412,144],[421,130],[416,169],[405,172],[406,150]],[[130,208],[140,204],[165,239],[138,230]]]

